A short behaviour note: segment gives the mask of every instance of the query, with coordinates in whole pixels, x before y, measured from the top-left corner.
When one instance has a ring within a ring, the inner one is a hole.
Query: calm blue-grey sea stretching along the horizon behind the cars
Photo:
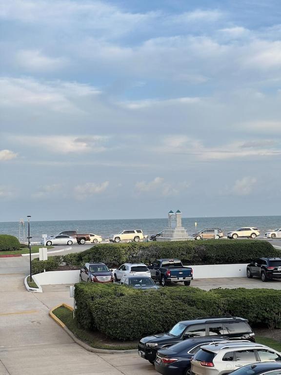
[[[191,217],[183,218],[182,225],[188,234],[204,228],[221,228],[224,233],[240,227],[257,227],[261,234],[268,229],[281,228],[281,216],[245,216],[245,217]],[[154,234],[168,225],[168,219],[120,219],[120,220],[69,220],[69,221],[32,221],[30,235],[32,241],[42,239],[42,234],[57,234],[63,230],[77,230],[79,233],[95,233],[108,238],[110,234],[123,229],[142,229],[144,234]],[[19,223],[0,223],[0,234],[19,236]],[[25,223],[27,235],[27,223]]]

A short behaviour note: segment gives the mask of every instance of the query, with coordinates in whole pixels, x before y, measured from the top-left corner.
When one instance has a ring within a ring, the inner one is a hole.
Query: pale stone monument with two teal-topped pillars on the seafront
[[[168,227],[164,229],[162,237],[156,237],[156,241],[187,241],[188,234],[181,224],[181,211],[168,213]]]

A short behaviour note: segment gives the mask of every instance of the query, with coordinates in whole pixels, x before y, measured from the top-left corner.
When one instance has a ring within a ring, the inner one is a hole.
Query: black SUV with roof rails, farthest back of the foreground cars
[[[177,323],[169,332],[143,337],[139,342],[139,355],[154,363],[159,349],[177,344],[187,338],[222,337],[226,340],[243,339],[255,341],[255,333],[244,318],[213,316],[185,320]]]

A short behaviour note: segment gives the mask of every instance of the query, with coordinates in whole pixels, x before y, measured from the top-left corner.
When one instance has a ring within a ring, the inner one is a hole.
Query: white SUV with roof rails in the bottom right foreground
[[[193,375],[222,375],[257,362],[281,361],[281,353],[246,340],[201,346],[191,361]]]

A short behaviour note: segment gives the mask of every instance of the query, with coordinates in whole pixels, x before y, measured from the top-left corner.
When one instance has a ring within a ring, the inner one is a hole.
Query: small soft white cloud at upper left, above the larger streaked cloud
[[[51,58],[34,49],[19,51],[16,60],[22,68],[38,72],[57,70],[67,64],[65,58]]]

